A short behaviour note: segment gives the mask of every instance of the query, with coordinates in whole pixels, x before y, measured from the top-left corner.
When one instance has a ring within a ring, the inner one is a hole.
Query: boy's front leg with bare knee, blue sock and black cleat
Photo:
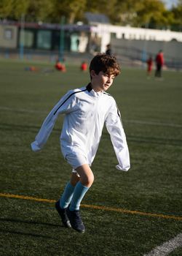
[[[84,225],[79,214],[79,206],[84,195],[92,186],[94,176],[89,165],[81,165],[76,168],[76,171],[79,173],[80,181],[76,184],[74,195],[69,208],[66,209],[66,214],[71,222],[71,227],[79,232],[84,232]]]

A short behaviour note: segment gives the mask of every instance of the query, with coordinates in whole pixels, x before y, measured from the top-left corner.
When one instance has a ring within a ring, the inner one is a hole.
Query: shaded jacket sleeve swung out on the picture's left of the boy
[[[60,113],[68,113],[74,108],[74,100],[71,96],[72,91],[68,91],[68,93],[60,99],[60,101],[55,105],[54,108],[50,111],[47,118],[45,118],[43,124],[41,125],[41,129],[39,129],[38,134],[36,135],[35,140],[31,143],[31,149],[33,151],[40,151],[41,148],[44,147],[44,144],[47,142],[53,127],[55,126],[55,121],[58,118],[58,114]]]

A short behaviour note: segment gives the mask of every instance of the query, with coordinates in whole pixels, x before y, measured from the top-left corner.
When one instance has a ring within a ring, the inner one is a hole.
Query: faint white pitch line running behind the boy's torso
[[[28,109],[17,109],[17,108],[8,108],[8,107],[0,107],[0,110],[11,111],[11,112],[19,112],[19,113],[42,113],[48,114],[48,111],[39,111],[39,110],[28,110]],[[157,121],[140,121],[140,120],[123,120],[124,123],[130,124],[146,124],[146,125],[154,125],[159,127],[176,127],[182,128],[182,124],[173,124],[173,123],[160,123]]]

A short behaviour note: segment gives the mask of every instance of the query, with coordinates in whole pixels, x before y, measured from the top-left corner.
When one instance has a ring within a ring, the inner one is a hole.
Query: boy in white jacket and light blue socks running
[[[60,113],[66,116],[60,135],[63,157],[73,167],[71,180],[62,197],[55,203],[63,225],[84,233],[84,224],[79,212],[80,203],[92,186],[94,176],[90,168],[100,142],[103,125],[106,124],[119,165],[116,168],[130,169],[127,141],[122,128],[116,102],[106,91],[112,85],[120,68],[114,56],[96,55],[90,63],[91,83],[81,89],[68,91],[52,109],[31,143],[33,151],[43,148]]]

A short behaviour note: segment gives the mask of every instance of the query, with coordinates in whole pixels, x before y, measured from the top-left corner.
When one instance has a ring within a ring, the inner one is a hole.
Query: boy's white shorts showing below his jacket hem
[[[69,165],[71,165],[73,167],[73,173],[76,173],[76,168],[81,166],[81,165],[88,165],[88,161],[86,159],[86,157],[84,157],[81,154],[75,154],[75,153],[71,153],[71,154],[66,154],[65,157],[66,161],[68,162]]]

